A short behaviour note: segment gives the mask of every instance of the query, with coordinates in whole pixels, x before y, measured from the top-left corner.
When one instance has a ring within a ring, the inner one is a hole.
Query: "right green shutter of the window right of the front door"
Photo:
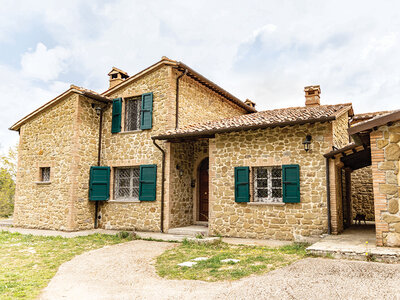
[[[282,166],[283,202],[300,202],[300,168],[299,165]]]

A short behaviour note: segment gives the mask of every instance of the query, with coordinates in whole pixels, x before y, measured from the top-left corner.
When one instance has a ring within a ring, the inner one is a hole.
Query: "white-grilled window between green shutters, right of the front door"
[[[253,168],[253,183],[254,202],[283,203],[280,167]]]

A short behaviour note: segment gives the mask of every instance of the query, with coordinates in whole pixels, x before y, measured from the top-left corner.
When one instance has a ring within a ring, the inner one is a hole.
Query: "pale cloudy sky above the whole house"
[[[398,1],[0,0],[0,144],[7,130],[71,83],[102,92],[129,74],[180,60],[259,110],[324,104],[400,108]]]

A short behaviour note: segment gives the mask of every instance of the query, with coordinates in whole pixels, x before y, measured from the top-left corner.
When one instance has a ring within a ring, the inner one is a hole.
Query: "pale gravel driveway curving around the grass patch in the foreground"
[[[171,243],[132,241],[63,264],[41,299],[399,299],[400,265],[307,258],[233,282],[166,280],[154,258]]]

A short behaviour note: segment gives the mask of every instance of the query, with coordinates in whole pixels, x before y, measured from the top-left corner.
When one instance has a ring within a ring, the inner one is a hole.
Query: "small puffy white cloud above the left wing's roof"
[[[70,52],[60,46],[53,49],[38,43],[34,52],[26,52],[21,58],[22,74],[26,77],[50,81],[67,71]]]

